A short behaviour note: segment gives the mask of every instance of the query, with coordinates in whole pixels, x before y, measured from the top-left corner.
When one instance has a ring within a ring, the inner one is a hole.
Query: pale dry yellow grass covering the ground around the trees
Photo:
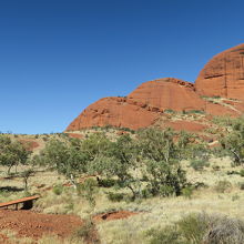
[[[141,212],[125,220],[108,221],[98,223],[98,232],[101,242],[104,244],[136,244],[146,243],[144,233],[151,227],[164,227],[167,224],[179,221],[186,213],[206,212],[220,213],[230,217],[244,216],[244,209],[240,207],[244,201],[244,191],[240,190],[238,183],[244,182],[244,177],[232,174],[227,175],[227,171],[240,171],[241,167],[232,167],[230,159],[211,159],[211,165],[203,172],[197,172],[190,167],[189,162],[183,162],[184,169],[187,171],[187,179],[191,182],[204,182],[209,187],[197,190],[193,193],[192,199],[153,197],[138,202],[110,202],[105,195],[105,189],[101,190],[95,197],[95,206],[79,196],[72,187],[64,187],[64,191],[57,195],[52,190],[43,191],[37,185],[45,184],[44,187],[53,186],[58,183],[64,183],[65,179],[59,176],[54,172],[40,172],[30,179],[30,191],[41,193],[42,197],[37,202],[35,209],[43,213],[72,213],[85,218],[91,214],[109,212],[111,210],[129,210]],[[216,171],[213,166],[220,166]],[[2,170],[2,169],[0,169]],[[218,193],[215,185],[218,181],[228,181],[232,187],[225,193]],[[20,186],[21,180],[1,181],[0,187],[6,185]],[[110,190],[111,191],[111,190]],[[20,193],[14,193],[3,200],[18,199]],[[53,237],[55,238],[55,237]],[[51,241],[50,241],[51,240]],[[43,237],[39,243],[59,243],[52,237]],[[63,242],[69,243],[69,240]],[[75,243],[75,242],[70,242]]]

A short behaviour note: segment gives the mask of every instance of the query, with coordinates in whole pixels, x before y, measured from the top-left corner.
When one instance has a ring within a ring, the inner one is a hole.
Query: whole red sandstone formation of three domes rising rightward
[[[215,101],[203,96],[222,99]],[[200,72],[195,84],[174,78],[142,83],[126,98],[104,98],[91,104],[67,131],[105,125],[138,130],[164,121],[160,119],[165,116],[166,110],[203,112],[206,116],[241,115],[244,111],[244,44],[215,55]],[[204,130],[201,123],[183,121],[164,121],[160,125]]]

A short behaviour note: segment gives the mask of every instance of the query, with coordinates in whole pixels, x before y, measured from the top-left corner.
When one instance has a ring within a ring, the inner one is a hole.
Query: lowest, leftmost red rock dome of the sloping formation
[[[138,130],[153,124],[157,108],[150,108],[125,98],[104,98],[88,106],[67,129],[78,131],[92,126],[112,125]]]

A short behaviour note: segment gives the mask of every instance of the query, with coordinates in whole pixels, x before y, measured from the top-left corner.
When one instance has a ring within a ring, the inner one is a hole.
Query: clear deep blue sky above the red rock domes
[[[1,0],[0,131],[62,132],[100,98],[194,82],[243,23],[243,0]]]

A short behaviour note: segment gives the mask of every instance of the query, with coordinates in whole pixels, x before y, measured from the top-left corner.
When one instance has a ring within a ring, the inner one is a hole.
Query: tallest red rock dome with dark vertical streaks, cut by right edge
[[[244,100],[244,44],[210,60],[200,72],[195,88],[201,95]]]

